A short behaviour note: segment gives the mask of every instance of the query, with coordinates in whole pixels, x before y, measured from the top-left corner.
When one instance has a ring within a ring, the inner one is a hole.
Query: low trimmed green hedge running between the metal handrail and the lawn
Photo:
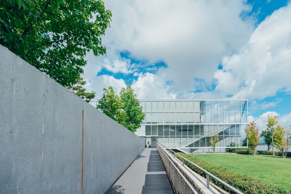
[[[279,186],[272,185],[272,184],[266,184],[263,182],[260,182],[256,179],[252,179],[250,177],[247,177],[245,175],[239,174],[237,172],[234,172],[232,170],[229,170],[221,165],[217,164],[211,164],[205,161],[202,161],[194,156],[184,154],[184,153],[178,153],[184,158],[187,158],[189,161],[195,163],[196,165],[202,167],[203,169],[207,170],[214,176],[218,177],[219,179],[225,181],[226,183],[230,184],[231,186],[235,187],[239,191],[242,191],[245,194],[269,194],[269,193],[280,193],[280,194],[291,194],[290,191],[287,191]],[[182,161],[182,158],[176,155],[176,157]],[[193,171],[197,172],[203,177],[206,177],[206,174],[199,170],[197,167],[192,165],[191,163],[185,161],[185,165],[187,165],[189,168],[191,168]],[[219,186],[223,190],[234,193],[230,189],[228,189],[226,186],[222,185],[215,179],[212,179],[210,177],[210,180],[215,185]]]

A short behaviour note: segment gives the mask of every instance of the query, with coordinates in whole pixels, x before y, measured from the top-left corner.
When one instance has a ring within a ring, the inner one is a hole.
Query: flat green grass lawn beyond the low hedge
[[[291,191],[291,158],[243,154],[193,154],[192,156]]]

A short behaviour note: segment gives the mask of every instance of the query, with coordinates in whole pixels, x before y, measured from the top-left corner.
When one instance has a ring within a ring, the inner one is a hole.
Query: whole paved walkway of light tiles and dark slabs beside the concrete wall
[[[157,149],[144,149],[106,193],[173,193]]]

